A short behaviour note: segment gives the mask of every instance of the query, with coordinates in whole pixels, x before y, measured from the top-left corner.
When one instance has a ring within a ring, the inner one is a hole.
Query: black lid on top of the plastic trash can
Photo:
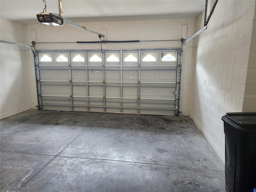
[[[256,112],[226,113],[225,118],[240,128],[254,128],[256,130]]]

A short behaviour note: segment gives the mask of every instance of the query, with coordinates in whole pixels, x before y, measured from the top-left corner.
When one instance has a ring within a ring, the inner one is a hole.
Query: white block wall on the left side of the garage
[[[1,40],[26,43],[24,25],[1,18]],[[1,43],[0,118],[28,110],[30,85],[28,80],[28,49]]]

